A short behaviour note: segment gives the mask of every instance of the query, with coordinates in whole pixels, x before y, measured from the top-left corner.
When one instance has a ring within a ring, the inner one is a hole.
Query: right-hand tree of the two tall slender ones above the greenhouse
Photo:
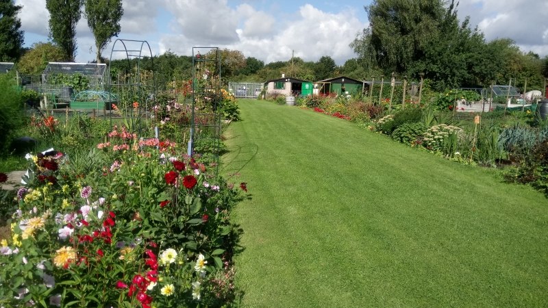
[[[97,48],[97,63],[101,63],[101,52],[113,36],[120,33],[120,20],[124,14],[122,0],[85,0],[84,15],[88,20]]]

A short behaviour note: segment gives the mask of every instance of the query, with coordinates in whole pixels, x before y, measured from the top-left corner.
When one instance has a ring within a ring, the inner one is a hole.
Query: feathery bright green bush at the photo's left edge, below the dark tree
[[[10,146],[14,131],[25,123],[23,103],[14,73],[0,75],[0,154],[4,154]]]

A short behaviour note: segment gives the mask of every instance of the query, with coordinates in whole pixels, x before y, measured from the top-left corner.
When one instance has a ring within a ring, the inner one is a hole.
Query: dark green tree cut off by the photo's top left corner
[[[0,61],[14,62],[21,57],[25,31],[20,30],[18,12],[23,8],[13,0],[0,0]]]

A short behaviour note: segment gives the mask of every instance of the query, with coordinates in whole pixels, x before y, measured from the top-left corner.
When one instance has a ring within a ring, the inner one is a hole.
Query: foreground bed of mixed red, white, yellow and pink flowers
[[[127,142],[127,143],[126,143]],[[220,307],[235,296],[230,211],[247,191],[124,130],[86,175],[60,153],[32,157],[2,240],[4,307]],[[180,152],[179,152],[180,153]]]

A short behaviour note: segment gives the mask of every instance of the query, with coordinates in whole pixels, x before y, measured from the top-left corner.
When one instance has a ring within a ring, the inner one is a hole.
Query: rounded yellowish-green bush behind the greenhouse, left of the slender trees
[[[60,47],[51,42],[35,42],[17,64],[23,75],[42,75],[49,62],[62,62],[66,54]]]

